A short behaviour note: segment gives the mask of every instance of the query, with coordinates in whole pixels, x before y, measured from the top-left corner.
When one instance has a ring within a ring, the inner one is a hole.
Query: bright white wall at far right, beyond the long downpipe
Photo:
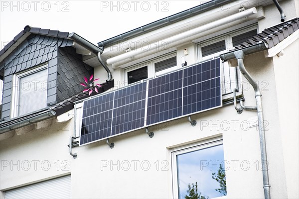
[[[299,91],[299,40],[284,49],[284,55],[273,57],[277,90],[279,119],[281,122],[281,139],[283,143],[284,162],[286,167],[287,190],[289,198],[298,198],[298,162],[294,152],[298,146],[298,91]],[[297,57],[297,58],[296,58]]]

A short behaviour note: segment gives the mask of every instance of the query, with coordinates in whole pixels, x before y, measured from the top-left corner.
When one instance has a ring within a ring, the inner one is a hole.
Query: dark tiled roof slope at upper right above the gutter
[[[287,22],[265,29],[263,32],[253,36],[247,41],[234,47],[232,51],[239,50],[262,42],[267,43],[268,49],[270,49],[276,46],[277,44],[279,44],[280,42],[282,42],[284,39],[286,39],[288,36],[293,34],[298,29],[299,29],[299,18],[294,18]]]

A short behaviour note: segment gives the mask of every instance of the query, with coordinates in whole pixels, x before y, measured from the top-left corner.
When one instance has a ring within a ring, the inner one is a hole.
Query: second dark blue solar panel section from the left
[[[115,92],[112,135],[145,125],[146,95],[146,82]]]

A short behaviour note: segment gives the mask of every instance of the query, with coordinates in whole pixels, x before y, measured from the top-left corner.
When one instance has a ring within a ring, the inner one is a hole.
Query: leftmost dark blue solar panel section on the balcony
[[[111,136],[114,93],[84,101],[80,145]]]

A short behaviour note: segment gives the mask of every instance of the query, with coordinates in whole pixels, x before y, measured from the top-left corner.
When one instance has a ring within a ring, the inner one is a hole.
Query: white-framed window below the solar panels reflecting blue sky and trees
[[[172,149],[171,155],[173,198],[184,199],[196,189],[200,199],[226,196],[222,138]]]

